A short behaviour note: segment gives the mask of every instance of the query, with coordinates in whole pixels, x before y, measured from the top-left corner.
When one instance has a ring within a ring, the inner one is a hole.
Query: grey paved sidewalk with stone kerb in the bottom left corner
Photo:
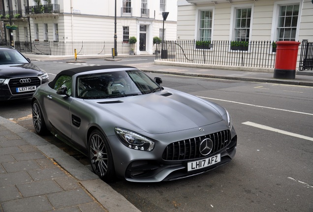
[[[0,212],[140,212],[86,166],[0,117]]]

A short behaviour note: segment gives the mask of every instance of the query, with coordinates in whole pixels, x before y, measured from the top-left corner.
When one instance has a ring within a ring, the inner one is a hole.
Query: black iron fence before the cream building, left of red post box
[[[258,68],[275,67],[276,48],[273,48],[272,41],[251,41],[237,45],[230,41],[197,44],[195,40],[158,43],[156,60]]]

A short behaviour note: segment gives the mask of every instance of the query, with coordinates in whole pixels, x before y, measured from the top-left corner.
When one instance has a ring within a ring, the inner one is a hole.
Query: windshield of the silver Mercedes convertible
[[[79,76],[76,96],[81,99],[107,99],[160,91],[161,87],[139,70],[104,72]]]

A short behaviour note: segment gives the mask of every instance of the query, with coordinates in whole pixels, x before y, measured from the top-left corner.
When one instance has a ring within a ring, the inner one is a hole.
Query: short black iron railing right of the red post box
[[[302,40],[299,71],[313,70],[313,42]]]

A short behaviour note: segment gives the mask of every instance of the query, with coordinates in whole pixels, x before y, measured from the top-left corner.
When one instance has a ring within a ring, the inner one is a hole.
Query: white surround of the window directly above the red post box
[[[300,23],[301,23],[301,16],[302,16],[302,0],[284,0],[284,1],[276,1],[274,2],[274,10],[273,10],[273,19],[272,19],[272,30],[271,30],[271,41],[277,40],[277,27],[278,27],[278,16],[280,12],[281,6],[287,5],[295,5],[299,3],[299,14],[298,14],[298,22],[297,22],[297,29],[296,29],[296,37],[295,40],[299,40],[299,31],[300,31]]]

